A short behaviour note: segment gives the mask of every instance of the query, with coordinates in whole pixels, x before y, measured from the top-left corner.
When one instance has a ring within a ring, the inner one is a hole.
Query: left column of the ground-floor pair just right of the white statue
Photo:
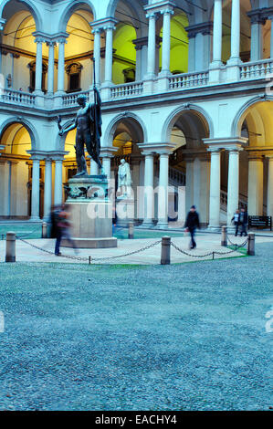
[[[153,190],[153,153],[143,153],[145,155],[144,173],[144,220],[142,226],[153,225],[154,217],[154,190]]]

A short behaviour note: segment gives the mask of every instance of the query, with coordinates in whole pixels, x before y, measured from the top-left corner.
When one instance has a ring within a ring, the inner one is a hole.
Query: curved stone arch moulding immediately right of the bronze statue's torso
[[[136,133],[139,133],[140,136],[142,135],[142,141],[147,141],[148,134],[143,121],[134,113],[124,112],[117,115],[110,121],[110,124],[104,133],[102,147],[109,146],[109,141],[111,141],[112,144],[115,131],[122,121],[127,122]]]

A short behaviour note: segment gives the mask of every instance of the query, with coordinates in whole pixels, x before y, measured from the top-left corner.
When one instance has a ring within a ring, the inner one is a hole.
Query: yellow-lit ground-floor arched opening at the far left
[[[22,123],[14,122],[5,127],[0,144],[5,146],[0,158],[0,217],[27,219],[31,214],[32,161],[30,151],[33,141]],[[44,163],[40,164],[40,206],[43,215]]]

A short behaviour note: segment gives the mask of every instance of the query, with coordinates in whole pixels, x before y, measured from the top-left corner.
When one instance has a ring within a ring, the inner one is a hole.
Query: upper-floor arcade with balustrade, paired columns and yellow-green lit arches
[[[3,0],[1,102],[75,106],[94,76],[104,100],[268,78],[272,19],[273,0]]]

